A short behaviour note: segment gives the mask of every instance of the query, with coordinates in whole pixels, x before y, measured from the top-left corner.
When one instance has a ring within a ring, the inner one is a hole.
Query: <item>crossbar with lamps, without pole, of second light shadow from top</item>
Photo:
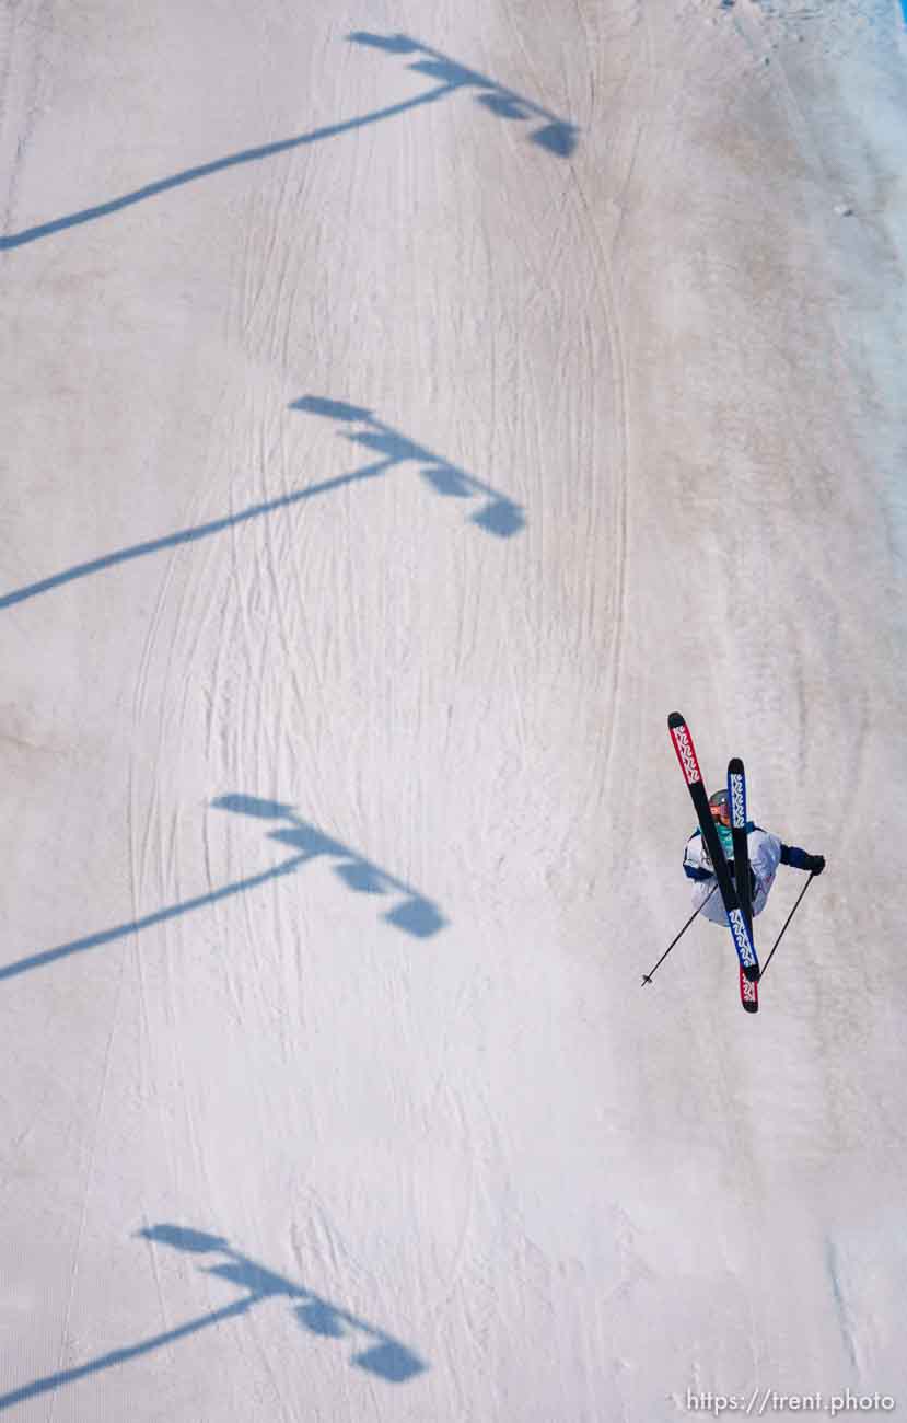
[[[408,435],[394,430],[392,425],[378,420],[371,410],[364,406],[350,406],[343,400],[324,400],[320,396],[303,396],[294,400],[290,410],[301,410],[310,416],[323,416],[327,420],[338,420],[344,425],[360,424],[364,428],[355,434],[344,431],[351,444],[364,450],[384,455],[387,467],[415,462],[421,464],[422,478],[431,485],[435,494],[444,498],[469,499],[476,495],[485,501],[479,509],[469,515],[469,522],[493,534],[496,538],[510,538],[526,527],[526,517],[519,504],[499,494],[490,484],[476,480],[473,474],[461,470],[451,460],[435,454],[425,445],[417,444]],[[0,602],[0,606],[1,602]]]

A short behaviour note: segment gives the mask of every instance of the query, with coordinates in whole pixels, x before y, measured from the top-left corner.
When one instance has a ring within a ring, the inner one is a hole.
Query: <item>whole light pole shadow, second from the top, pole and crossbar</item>
[[[381,458],[363,465],[361,470],[353,470],[350,474],[321,480],[318,484],[307,484],[303,490],[281,494],[276,499],[250,504],[249,508],[239,509],[236,514],[209,519],[206,524],[196,524],[193,528],[176,529],[173,534],[163,534],[161,538],[145,539],[141,544],[131,544],[128,548],[115,549],[112,554],[102,554],[100,558],[87,559],[84,564],[73,564],[58,573],[50,573],[47,578],[38,578],[33,583],[14,588],[9,593],[0,593],[0,610],[14,608],[17,603],[24,603],[41,593],[50,593],[53,589],[61,588],[64,583],[71,583],[75,579],[90,578],[92,573],[101,573],[121,564],[131,564],[136,558],[148,558],[152,554],[162,554],[169,548],[198,544],[202,539],[225,534],[227,529],[239,528],[253,519],[293,508],[293,505],[301,504],[304,499],[313,499],[321,494],[333,494],[344,485],[381,478],[405,460],[422,460],[426,462],[428,467],[422,470],[422,475],[438,494],[454,495],[456,498],[468,498],[473,494],[485,495],[486,504],[472,515],[472,522],[485,529],[486,534],[495,534],[498,538],[509,538],[512,534],[519,532],[526,522],[519,504],[515,504],[505,495],[496,494],[490,485],[482,484],[481,480],[473,478],[463,470],[458,470],[448,460],[442,460],[405,435],[398,434],[391,425],[375,420],[368,410],[361,410],[358,406],[347,406],[337,400],[320,400],[314,396],[306,396],[301,400],[293,401],[290,408],[331,416],[347,421],[364,420],[368,427],[367,431],[350,438],[354,444],[360,444],[370,451],[377,451]]]

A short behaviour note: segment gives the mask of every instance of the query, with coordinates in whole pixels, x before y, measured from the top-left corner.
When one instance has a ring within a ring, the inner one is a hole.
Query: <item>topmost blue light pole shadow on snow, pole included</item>
[[[127,208],[132,208],[139,202],[146,202],[149,198],[156,198],[175,188],[183,188],[186,184],[198,182],[202,178],[210,178],[213,174],[225,172],[229,168],[237,168],[243,164],[262,162],[262,159],[274,158],[277,154],[286,154],[294,148],[303,148],[307,144],[318,144],[327,138],[338,138],[341,134],[364,128],[368,124],[378,124],[388,118],[397,118],[399,114],[419,108],[424,104],[436,104],[439,100],[446,98],[449,94],[455,94],[461,88],[478,88],[481,91],[478,95],[479,102],[498,118],[523,120],[530,115],[535,118],[543,118],[546,122],[540,129],[532,134],[532,141],[539,144],[542,148],[546,148],[549,152],[567,158],[576,147],[577,129],[573,124],[567,124],[564,120],[560,120],[554,114],[549,112],[540,104],[535,104],[532,100],[523,98],[513,90],[496,84],[495,80],[486,78],[476,70],[469,70],[465,65],[449,60],[439,50],[432,50],[429,46],[419,44],[408,36],[381,37],[367,31],[355,31],[354,34],[347,36],[347,38],[351,43],[368,44],[372,48],[384,50],[385,53],[418,53],[422,58],[415,64],[408,65],[408,68],[432,80],[439,80],[441,83],[435,84],[422,94],[417,94],[412,98],[401,101],[399,104],[388,104],[384,108],[371,110],[368,114],[360,114],[355,118],[341,120],[337,124],[327,124],[323,128],[314,128],[307,134],[296,134],[291,138],[280,138],[272,144],[259,144],[254,148],[243,148],[239,152],[227,154],[225,158],[215,158],[206,164],[196,164],[193,168],[183,168],[181,172],[171,174],[166,178],[158,178],[154,182],[144,184],[141,188],[132,189],[132,192],[124,192],[118,198],[109,198],[107,202],[98,202],[91,208],[82,208],[78,212],[70,212],[61,218],[51,218],[48,222],[38,222],[34,226],[23,228],[21,232],[9,232],[0,236],[0,252],[11,252],[14,248],[26,246],[27,243],[37,242],[41,238],[50,238],[57,232],[65,232],[68,228],[77,228],[85,222],[95,222],[98,218],[109,218],[112,213],[124,212]]]

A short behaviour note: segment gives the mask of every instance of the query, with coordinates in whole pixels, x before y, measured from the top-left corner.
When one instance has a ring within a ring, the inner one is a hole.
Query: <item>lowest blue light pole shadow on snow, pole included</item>
[[[139,1231],[138,1235],[151,1245],[166,1245],[193,1255],[218,1254],[223,1257],[219,1264],[208,1266],[205,1274],[235,1285],[242,1291],[240,1298],[230,1305],[225,1305],[222,1309],[212,1309],[205,1315],[189,1319],[183,1325],[178,1325],[175,1329],[168,1329],[165,1333],[154,1335],[149,1339],[142,1339],[139,1343],[127,1345],[121,1349],[111,1349],[108,1353],[88,1359],[85,1363],[75,1365],[71,1369],[61,1369],[57,1373],[45,1375],[43,1379],[34,1379],[18,1389],[11,1389],[0,1395],[0,1410],[16,1407],[16,1405],[38,1397],[43,1393],[51,1393],[67,1383],[78,1383],[80,1379],[87,1379],[91,1375],[101,1373],[104,1369],[128,1363],[131,1359],[139,1359],[155,1349],[188,1339],[202,1329],[212,1329],[227,1319],[239,1318],[266,1299],[280,1296],[293,1302],[297,1323],[310,1335],[317,1335],[321,1339],[364,1339],[363,1343],[357,1343],[357,1352],[350,1358],[353,1368],[364,1369],[385,1383],[407,1383],[428,1368],[412,1349],[407,1348],[407,1345],[401,1343],[385,1329],[380,1329],[368,1323],[368,1321],[350,1313],[350,1311],[331,1303],[311,1289],[306,1289],[304,1285],[296,1285],[291,1279],[274,1274],[264,1265],[259,1265],[249,1255],[233,1249],[222,1235],[209,1235],[203,1231],[186,1229],[185,1227],[169,1224],[151,1225]]]

